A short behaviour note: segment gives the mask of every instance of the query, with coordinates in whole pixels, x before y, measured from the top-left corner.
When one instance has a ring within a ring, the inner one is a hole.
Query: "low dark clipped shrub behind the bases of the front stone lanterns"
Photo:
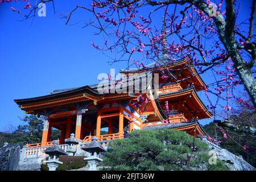
[[[57,167],[56,171],[67,171],[71,169],[79,169],[86,166],[86,161],[84,160],[84,156],[68,156],[61,155],[59,160],[63,162]],[[48,167],[46,164],[41,165],[42,171],[48,171]]]

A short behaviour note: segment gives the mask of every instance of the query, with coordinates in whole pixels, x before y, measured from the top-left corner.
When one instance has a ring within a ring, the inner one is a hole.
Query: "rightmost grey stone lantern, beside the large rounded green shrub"
[[[92,138],[92,142],[81,146],[81,149],[90,153],[88,158],[84,158],[89,164],[89,171],[97,171],[98,163],[102,162],[102,159],[99,158],[98,154],[100,152],[105,152],[106,149],[101,146],[96,137]]]

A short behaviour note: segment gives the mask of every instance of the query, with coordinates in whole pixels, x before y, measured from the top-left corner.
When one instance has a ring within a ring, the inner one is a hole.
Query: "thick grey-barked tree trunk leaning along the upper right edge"
[[[211,11],[207,3],[204,3],[203,1],[195,2],[195,6],[208,15]],[[217,14],[213,19],[216,23],[218,36],[231,57],[234,63],[234,68],[243,82],[243,85],[251,98],[251,102],[253,102],[254,108],[256,108],[256,82],[253,74],[251,73],[251,69],[243,61],[240,53],[238,52],[237,42],[234,37],[235,16],[236,14],[234,12],[232,0],[226,0],[226,20],[221,14]]]

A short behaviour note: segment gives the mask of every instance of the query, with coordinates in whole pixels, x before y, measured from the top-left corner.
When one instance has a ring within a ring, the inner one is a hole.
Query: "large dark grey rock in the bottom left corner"
[[[17,171],[19,153],[19,144],[8,144],[0,148],[0,171]]]

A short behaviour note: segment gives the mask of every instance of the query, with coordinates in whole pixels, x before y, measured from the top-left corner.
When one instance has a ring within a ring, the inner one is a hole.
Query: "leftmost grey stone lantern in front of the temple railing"
[[[53,142],[53,146],[49,146],[44,150],[44,153],[49,155],[48,160],[46,160],[49,171],[55,171],[60,164],[63,164],[63,162],[59,161],[60,155],[67,155],[67,152],[60,148],[56,140]]]

